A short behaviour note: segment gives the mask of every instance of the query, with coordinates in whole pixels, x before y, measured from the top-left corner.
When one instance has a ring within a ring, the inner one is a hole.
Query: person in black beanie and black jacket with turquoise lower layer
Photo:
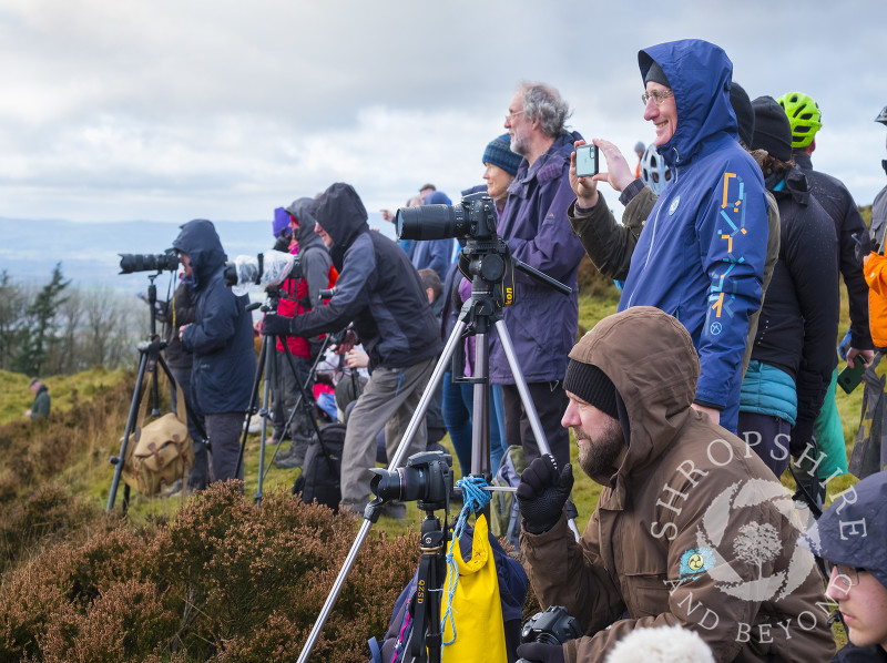
[[[813,426],[837,359],[837,236],[804,173],[791,163],[792,128],[782,108],[772,96],[752,103],[752,147],[764,152],[767,191],[779,205],[781,239],[742,382],[738,431],[779,477],[789,451],[795,458],[818,456]],[[829,475],[820,469],[819,477]]]

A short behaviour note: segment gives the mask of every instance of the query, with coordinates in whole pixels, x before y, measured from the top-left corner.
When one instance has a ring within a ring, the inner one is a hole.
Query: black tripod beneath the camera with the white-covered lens
[[[265,303],[262,304],[261,310],[263,313],[268,312],[276,312],[277,310],[277,303],[279,300],[279,288],[278,287],[268,287],[266,288],[267,298]],[[320,348],[320,351],[317,355],[317,359],[315,359],[312,368],[308,371],[307,381],[303,384],[303,381],[298,377],[298,370],[296,369],[296,360],[293,357],[293,353],[289,350],[289,346],[287,345],[286,336],[262,336],[262,349],[259,350],[259,358],[258,358],[258,366],[256,367],[256,375],[253,380],[253,391],[252,396],[249,397],[249,407],[246,410],[246,421],[244,425],[243,434],[241,437],[241,453],[237,458],[237,469],[235,475],[239,475],[241,467],[243,465],[244,452],[246,450],[246,436],[249,432],[249,421],[254,414],[258,414],[262,417],[262,435],[261,435],[261,443],[258,449],[258,486],[256,487],[255,492],[255,501],[256,506],[262,506],[262,498],[263,498],[263,486],[265,480],[265,475],[267,475],[268,470],[271,469],[271,463],[274,461],[274,457],[277,456],[277,451],[283,443],[283,436],[282,439],[277,440],[277,446],[274,449],[274,453],[272,455],[271,460],[268,461],[267,467],[265,466],[265,441],[267,440],[267,432],[268,432],[268,419],[269,419],[269,391],[271,391],[271,380],[269,374],[272,374],[275,368],[275,353],[277,353],[277,339],[281,339],[281,345],[284,348],[284,356],[286,357],[286,366],[284,370],[289,369],[293,374],[294,381],[296,387],[298,388],[298,396],[296,397],[296,402],[293,406],[293,410],[289,412],[289,416],[286,420],[284,430],[289,430],[289,426],[293,422],[296,414],[299,409],[303,409],[312,422],[314,427],[314,432],[317,435],[317,439],[319,440],[320,448],[324,450],[324,458],[326,458],[327,463],[329,463],[329,470],[334,475],[336,473],[336,469],[333,465],[333,460],[329,458],[329,452],[327,448],[324,446],[324,438],[320,435],[320,427],[317,425],[317,419],[314,417],[314,412],[312,411],[310,399],[308,398],[308,385],[310,384],[310,378],[317,370],[317,365],[324,356],[324,351],[326,350],[327,346],[330,343],[332,336],[327,334],[326,338],[324,339],[324,345]],[[263,377],[264,376],[264,377]],[[262,407],[257,408],[257,399],[258,399],[258,386],[259,384],[263,385],[262,387]],[[294,442],[295,443],[295,442]]]

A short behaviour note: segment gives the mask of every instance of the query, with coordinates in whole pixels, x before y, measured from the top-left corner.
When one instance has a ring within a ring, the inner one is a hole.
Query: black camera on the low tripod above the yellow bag
[[[452,494],[452,456],[443,451],[421,451],[410,456],[406,467],[370,471],[376,476],[369,488],[383,501],[418,500],[420,509],[440,509]]]

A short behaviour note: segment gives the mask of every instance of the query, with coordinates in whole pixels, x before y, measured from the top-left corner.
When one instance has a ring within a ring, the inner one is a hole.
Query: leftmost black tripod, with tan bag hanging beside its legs
[[[157,366],[163,369],[163,373],[166,374],[166,378],[170,380],[170,385],[174,385],[175,389],[181,389],[179,382],[175,381],[173,378],[173,374],[170,371],[170,367],[166,366],[166,360],[163,358],[161,350],[166,347],[166,341],[161,340],[160,336],[157,335],[157,312],[156,312],[156,304],[157,304],[157,286],[154,285],[154,279],[160,276],[160,272],[157,274],[149,275],[149,280],[151,282],[147,286],[147,305],[151,310],[151,335],[149,336],[149,340],[143,340],[137,345],[139,348],[139,374],[135,378],[135,390],[132,395],[132,402],[130,404],[130,412],[126,417],[126,428],[123,431],[123,440],[120,443],[120,453],[118,456],[112,456],[109,461],[111,465],[114,466],[114,478],[111,480],[111,490],[108,494],[108,506],[105,507],[105,511],[110,511],[114,508],[114,501],[116,500],[118,496],[118,487],[120,486],[120,478],[123,473],[123,466],[126,459],[126,448],[130,445],[130,436],[135,428],[135,419],[139,412],[139,406],[142,402],[142,398],[144,397],[144,377],[145,373],[151,374],[151,416],[157,417],[160,416],[160,390],[157,388]],[[187,418],[186,412],[180,412],[180,416],[183,419]],[[203,436],[206,439],[206,436]],[[123,487],[123,511],[125,512],[130,504],[130,484],[126,483]]]

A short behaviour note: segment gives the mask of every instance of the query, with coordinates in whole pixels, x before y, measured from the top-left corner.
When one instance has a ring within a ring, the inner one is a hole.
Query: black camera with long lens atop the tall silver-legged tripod
[[[496,236],[496,205],[486,193],[473,193],[458,205],[400,207],[395,223],[399,239],[491,239]]]

